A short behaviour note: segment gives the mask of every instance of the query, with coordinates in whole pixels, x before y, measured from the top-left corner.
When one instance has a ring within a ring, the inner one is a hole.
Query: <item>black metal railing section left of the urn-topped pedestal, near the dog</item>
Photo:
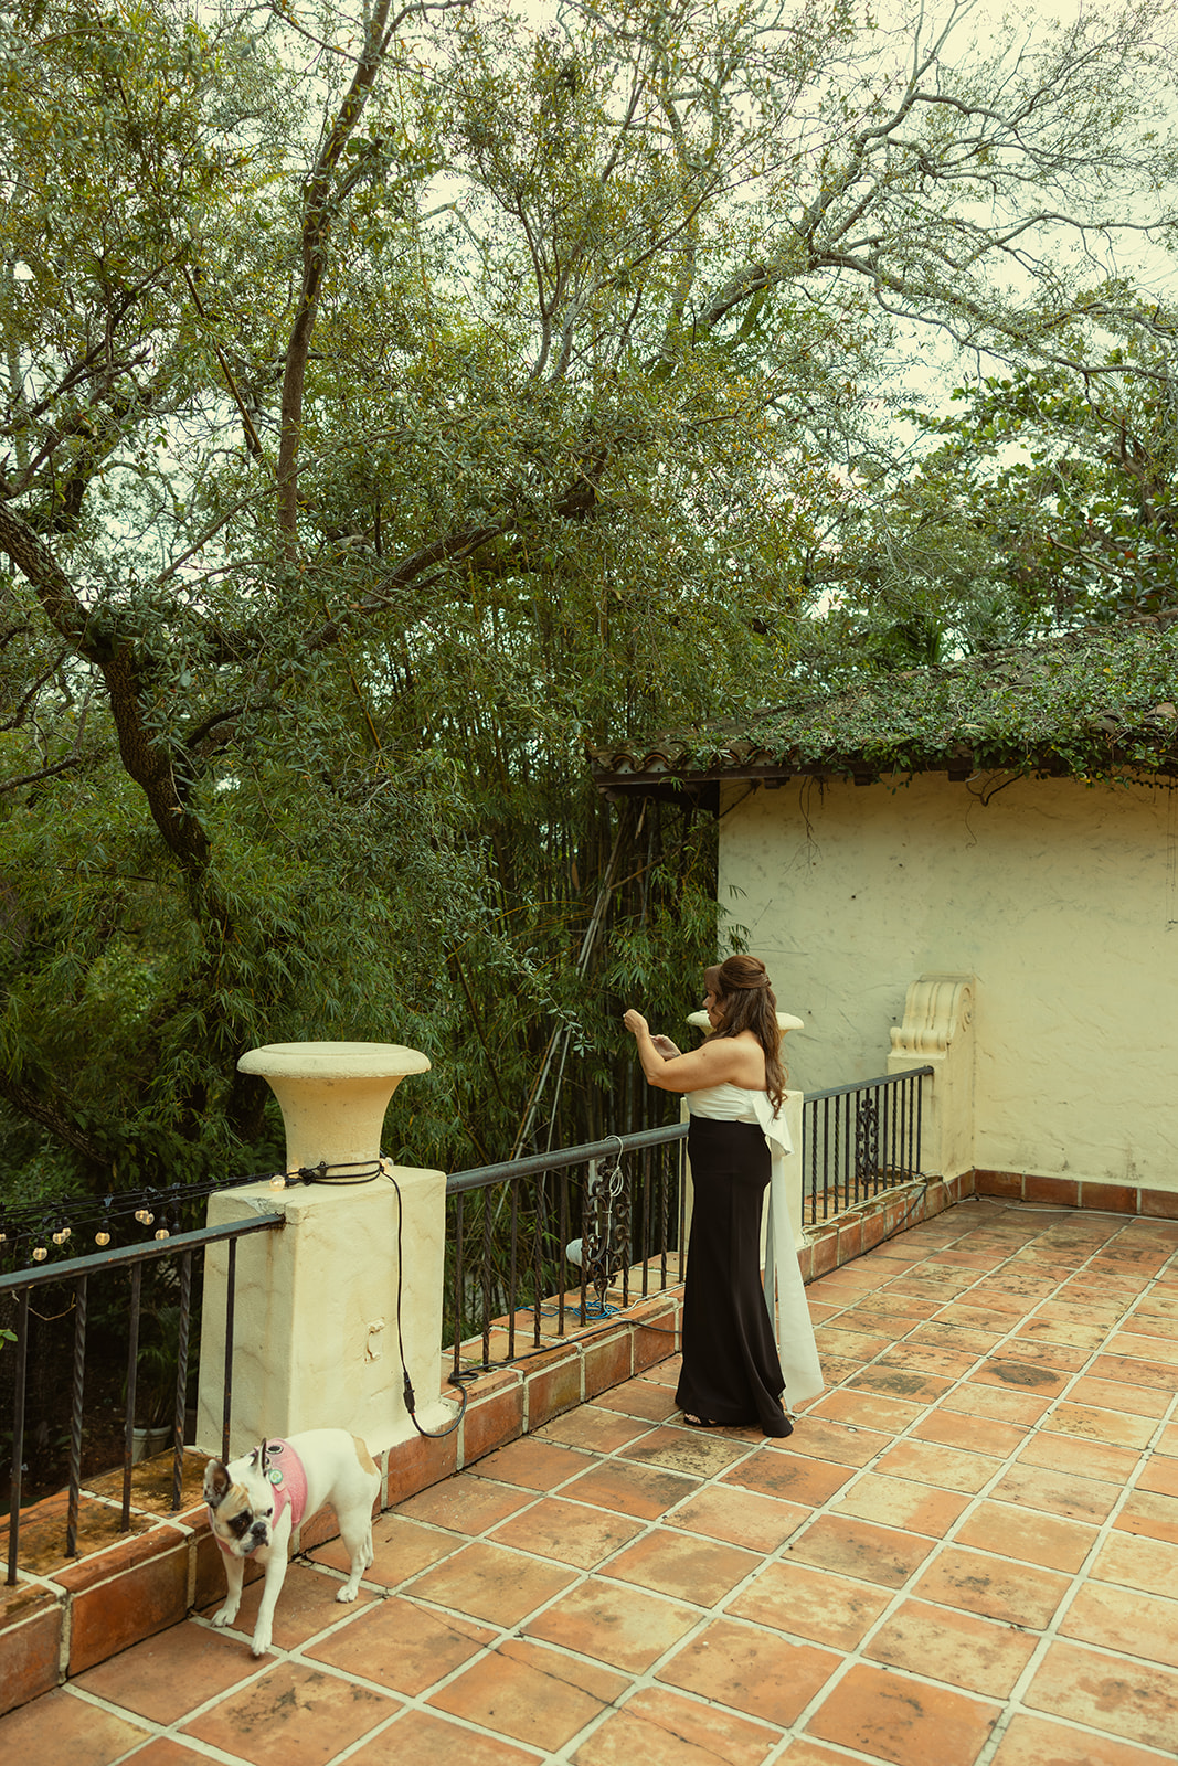
[[[124,1482],[122,1482],[122,1531],[131,1526],[131,1466],[132,1466],[132,1429],[134,1400],[140,1360],[140,1293],[145,1264],[178,1259],[178,1342],[177,1342],[177,1381],[175,1406],[171,1418],[171,1508],[180,1508],[180,1491],[184,1478],[184,1408],[189,1374],[189,1333],[193,1316],[193,1257],[203,1254],[208,1245],[228,1241],[228,1284],[226,1284],[226,1319],[224,1319],[224,1408],[221,1427],[221,1452],[228,1455],[230,1411],[233,1397],[233,1307],[237,1275],[237,1241],[249,1233],[267,1233],[281,1227],[283,1215],[249,1215],[244,1220],[230,1220],[224,1226],[200,1227],[194,1233],[173,1233],[166,1240],[147,1245],[131,1245],[117,1250],[99,1250],[88,1257],[69,1257],[62,1263],[48,1263],[37,1270],[14,1270],[0,1275],[0,1298],[11,1294],[16,1303],[16,1342],[12,1355],[14,1390],[12,1390],[12,1485],[9,1498],[9,1551],[7,1551],[7,1586],[16,1582],[16,1565],[19,1554],[21,1529],[21,1482],[25,1457],[25,1397],[28,1376],[28,1316],[34,1289],[48,1287],[53,1282],[72,1284],[74,1298],[74,1347],[71,1367],[71,1409],[69,1409],[69,1485],[65,1517],[65,1556],[78,1554],[78,1513],[81,1498],[81,1432],[85,1399],[85,1358],[87,1358],[87,1316],[90,1279],[113,1270],[131,1272],[131,1303],[127,1330],[127,1400],[124,1423]],[[4,1351],[9,1353],[7,1349]]]

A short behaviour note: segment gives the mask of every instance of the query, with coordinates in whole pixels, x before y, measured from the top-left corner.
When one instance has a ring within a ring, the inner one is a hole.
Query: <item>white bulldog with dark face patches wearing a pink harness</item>
[[[346,1429],[309,1429],[290,1441],[263,1441],[228,1466],[210,1459],[205,1468],[208,1524],[224,1558],[228,1598],[214,1625],[231,1625],[242,1602],[245,1559],[265,1565],[261,1605],[251,1649],[270,1648],[274,1607],[286,1577],[286,1551],[293,1529],[330,1503],[339,1521],[351,1575],[336,1600],[355,1600],[360,1577],[373,1561],[373,1503],[380,1473],[359,1436]]]

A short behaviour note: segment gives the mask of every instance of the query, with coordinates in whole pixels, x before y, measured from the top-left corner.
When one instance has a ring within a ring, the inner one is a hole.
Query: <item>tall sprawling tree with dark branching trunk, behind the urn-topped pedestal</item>
[[[1083,367],[1070,242],[1166,219],[1166,9],[970,18],[7,16],[0,1098],[37,1181],[261,1158],[235,1060],[283,1037],[427,1049],[404,1136],[447,1164],[641,1107],[616,1012],[694,1003],[710,830],[611,823],[583,742],[772,698],[910,327]]]

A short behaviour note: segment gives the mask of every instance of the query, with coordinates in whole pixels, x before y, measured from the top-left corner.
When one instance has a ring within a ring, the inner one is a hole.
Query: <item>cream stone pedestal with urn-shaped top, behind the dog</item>
[[[263,1074],[279,1097],[288,1173],[325,1164],[348,1178],[350,1167],[378,1164],[385,1106],[429,1061],[392,1044],[276,1044],[253,1049],[240,1067]],[[230,1452],[302,1429],[351,1429],[373,1453],[415,1434],[403,1397],[397,1279],[417,1418],[424,1429],[443,1427],[452,1416],[438,1397],[445,1174],[385,1160],[359,1183],[247,1185],[212,1196],[208,1224],[251,1210],[279,1213],[284,1226],[237,1249]],[[201,1317],[198,1445],[215,1453],[228,1261],[228,1247],[207,1254]]]

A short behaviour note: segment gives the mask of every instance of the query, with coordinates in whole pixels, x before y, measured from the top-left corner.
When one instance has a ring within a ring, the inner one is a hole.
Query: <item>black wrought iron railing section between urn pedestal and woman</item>
[[[498,1360],[512,1360],[521,1339],[539,1349],[569,1321],[581,1328],[682,1279],[685,1139],[687,1123],[671,1123],[447,1178],[443,1340],[454,1374],[470,1372],[479,1339],[480,1365],[493,1365],[496,1319]]]

